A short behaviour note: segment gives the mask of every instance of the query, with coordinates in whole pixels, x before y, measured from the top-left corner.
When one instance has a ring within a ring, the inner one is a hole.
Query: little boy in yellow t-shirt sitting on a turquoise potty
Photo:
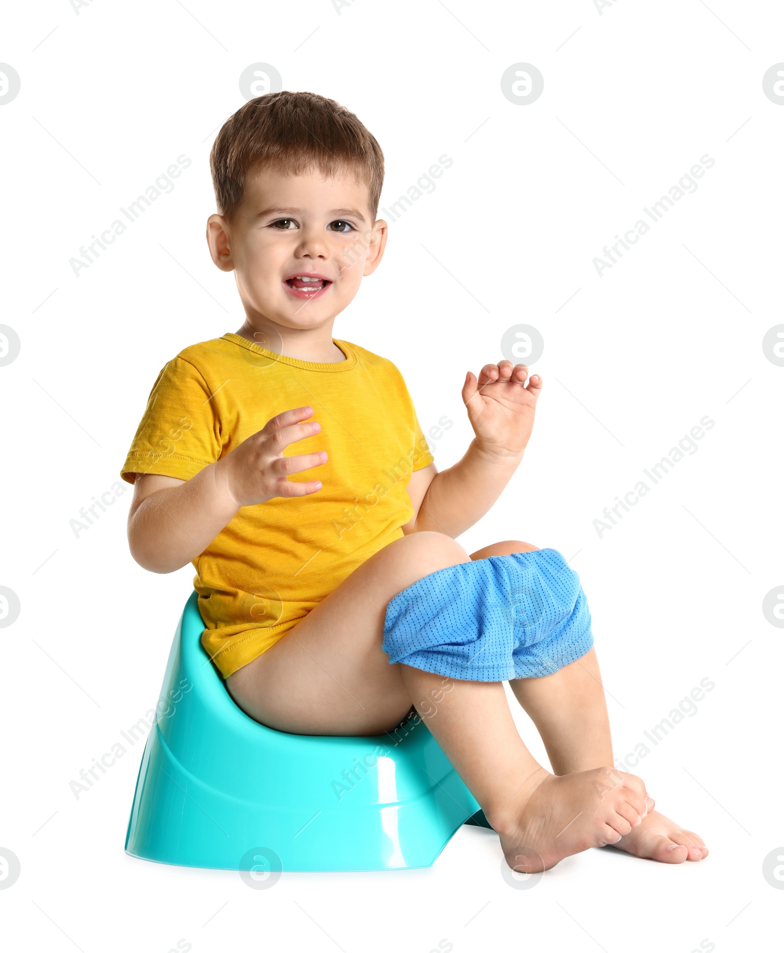
[[[166,364],[122,477],[134,483],[134,559],[156,573],[193,562],[202,644],[237,705],[307,735],[382,734],[413,705],[518,869],[605,844],[670,863],[707,856],[652,809],[643,781],[609,766],[589,628],[558,670],[509,679],[552,774],[517,732],[508,676],[444,678],[382,647],[391,600],[424,605],[418,584],[563,557],[518,540],[469,556],[456,541],[520,464],[539,375],[506,360],[466,374],[476,436],[439,473],[398,369],[332,337],[386,245],[376,139],[333,100],[275,92],[224,124],[211,166],[207,242],[235,274],[245,321]]]

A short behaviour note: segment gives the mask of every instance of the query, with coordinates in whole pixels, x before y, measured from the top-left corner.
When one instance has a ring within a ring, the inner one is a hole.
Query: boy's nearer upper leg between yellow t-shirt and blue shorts
[[[258,659],[227,679],[251,718],[300,735],[378,735],[412,700],[382,651],[389,600],[418,579],[467,562],[441,533],[412,533],[363,562]]]

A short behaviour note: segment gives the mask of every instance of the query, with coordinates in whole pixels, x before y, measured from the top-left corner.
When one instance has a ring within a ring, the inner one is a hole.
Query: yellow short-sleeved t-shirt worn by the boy
[[[335,340],[345,360],[276,355],[227,334],[185,348],[163,368],[121,476],[187,480],[230,453],[273,416],[309,405],[319,434],[284,456],[325,450],[295,474],[318,493],[243,506],[194,560],[202,644],[224,679],[291,631],[413,516],[406,486],[433,462],[395,365]]]

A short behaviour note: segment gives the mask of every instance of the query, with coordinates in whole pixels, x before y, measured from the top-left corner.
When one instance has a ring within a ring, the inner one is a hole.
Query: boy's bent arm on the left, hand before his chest
[[[286,477],[320,466],[326,454],[283,456],[290,443],[319,433],[315,420],[302,422],[310,416],[312,408],[299,407],[273,417],[189,480],[137,475],[128,514],[128,543],[136,562],[154,573],[172,573],[204,552],[241,506],[318,492],[318,480]]]

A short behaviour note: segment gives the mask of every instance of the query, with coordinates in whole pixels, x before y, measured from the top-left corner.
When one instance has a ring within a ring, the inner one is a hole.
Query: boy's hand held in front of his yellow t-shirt
[[[310,416],[313,416],[312,407],[283,411],[217,461],[216,474],[225,481],[226,489],[237,506],[254,506],[274,497],[305,497],[321,489],[320,480],[295,483],[287,476],[326,462],[327,455],[323,450],[283,456],[283,450],[289,444],[319,433],[320,423],[315,420],[303,422]]]

